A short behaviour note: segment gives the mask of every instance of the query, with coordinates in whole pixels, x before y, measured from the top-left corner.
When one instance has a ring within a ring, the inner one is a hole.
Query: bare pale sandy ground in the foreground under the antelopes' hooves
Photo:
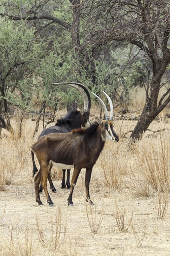
[[[95,172],[93,170],[93,175]],[[6,247],[9,246],[11,237],[14,243],[25,241],[26,233],[37,248],[33,255],[46,255],[39,243],[36,219],[46,243],[49,244],[52,233],[55,235],[57,232],[56,216],[59,209],[62,215],[59,222],[60,233],[61,236],[65,236],[62,242],[64,248],[61,250],[60,246],[59,251],[55,251],[53,255],[170,255],[170,209],[163,220],[158,220],[156,195],[135,198],[129,193],[131,191],[126,189],[115,192],[105,187],[91,186],[91,196],[95,205],[90,206],[85,202],[85,188],[83,189],[80,183],[78,182],[73,194],[73,207],[67,206],[69,191],[60,189],[60,182],[54,181],[57,193],[50,192],[55,204],[52,208],[47,205],[44,195],[41,196],[44,206],[38,206],[34,198],[33,184],[13,185],[2,191],[0,255],[7,252]],[[131,226],[126,232],[118,229],[115,200],[122,211],[125,209],[126,227],[133,214],[131,224],[136,236]],[[100,217],[103,218],[96,234],[90,229],[87,213],[91,223],[93,215],[96,227]]]

